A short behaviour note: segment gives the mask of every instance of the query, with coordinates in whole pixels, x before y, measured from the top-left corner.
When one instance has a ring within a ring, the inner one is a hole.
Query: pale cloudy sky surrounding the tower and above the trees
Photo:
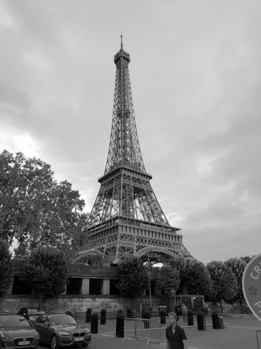
[[[90,212],[130,53],[146,171],[204,263],[260,253],[261,2],[0,1],[0,151],[49,163]]]

